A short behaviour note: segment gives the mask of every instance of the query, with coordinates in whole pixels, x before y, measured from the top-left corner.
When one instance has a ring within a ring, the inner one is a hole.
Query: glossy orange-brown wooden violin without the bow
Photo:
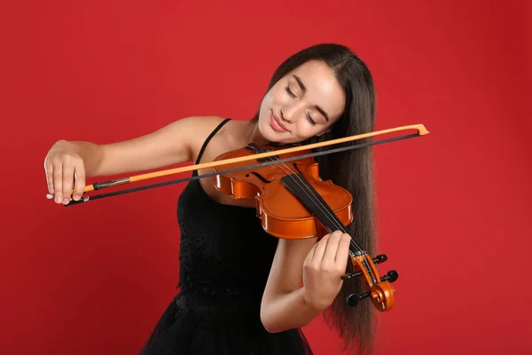
[[[215,161],[235,159],[245,155],[276,151],[273,146],[248,145],[245,148],[219,155]],[[306,152],[311,154],[310,151]],[[298,154],[285,154],[286,158],[296,156],[290,163],[262,166],[253,170],[238,170],[216,175],[215,188],[233,199],[256,200],[257,217],[267,233],[283,239],[305,239],[323,237],[326,233],[340,230],[349,233],[346,226],[353,220],[351,203],[353,197],[343,187],[332,181],[321,181],[318,164],[314,157],[300,158]],[[263,158],[275,162],[278,156]],[[261,162],[261,161],[259,161]],[[239,168],[246,162],[230,164],[228,168]],[[217,171],[216,168],[214,168]],[[398,278],[395,270],[379,277],[375,262],[385,261],[387,256],[375,260],[351,238],[349,244],[350,265],[353,269],[344,280],[358,277],[367,290],[363,295],[349,295],[348,304],[356,305],[370,296],[379,311],[394,306],[394,292],[390,282]]]

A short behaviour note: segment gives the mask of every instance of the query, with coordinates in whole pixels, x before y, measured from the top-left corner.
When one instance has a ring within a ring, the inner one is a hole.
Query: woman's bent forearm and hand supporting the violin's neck
[[[270,333],[304,327],[332,304],[346,271],[349,241],[340,231],[318,242],[278,241],[261,304],[262,324]]]

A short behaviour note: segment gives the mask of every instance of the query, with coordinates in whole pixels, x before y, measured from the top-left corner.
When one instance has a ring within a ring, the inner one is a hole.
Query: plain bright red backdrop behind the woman
[[[137,353],[176,292],[183,185],[62,208],[44,198],[56,140],[248,118],[275,67],[320,42],[371,67],[378,130],[431,132],[375,148],[379,269],[401,273],[376,353],[532,351],[529,2],[1,6],[2,353]],[[340,353],[321,319],[305,331]]]

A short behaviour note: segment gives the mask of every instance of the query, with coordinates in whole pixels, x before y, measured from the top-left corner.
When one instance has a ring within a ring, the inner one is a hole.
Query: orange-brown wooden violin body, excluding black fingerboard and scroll
[[[253,146],[249,149],[244,148],[222,154],[215,161],[257,154],[257,149],[263,151],[263,149],[275,150],[278,148]],[[306,154],[310,151],[302,153]],[[282,158],[291,158],[300,154],[283,154]],[[266,158],[257,160],[257,163],[268,161],[269,159]],[[224,169],[232,170],[247,165],[249,162],[237,162],[224,167]],[[283,184],[282,178],[289,175],[295,175],[293,181],[296,185],[304,185],[305,187],[308,187],[306,184],[311,185],[312,189],[307,191],[317,192],[319,197],[332,209],[335,217],[340,219],[342,225],[351,223],[353,220],[351,194],[344,188],[332,184],[331,181],[321,181],[318,165],[313,157],[266,165],[251,170],[218,174],[214,177],[214,185],[218,191],[230,195],[233,199],[255,199],[257,217],[261,218],[262,227],[266,232],[278,238],[305,239],[322,237],[329,233],[325,225],[309,212],[309,209]],[[303,178],[305,181],[302,180]]]

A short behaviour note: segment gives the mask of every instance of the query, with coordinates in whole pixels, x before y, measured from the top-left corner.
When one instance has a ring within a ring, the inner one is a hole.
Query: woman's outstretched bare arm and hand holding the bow
[[[145,136],[105,145],[61,139],[44,159],[48,191],[55,195],[56,203],[68,203],[74,189],[73,199],[78,201],[86,177],[152,170],[190,161],[197,127],[198,117],[186,117]]]

